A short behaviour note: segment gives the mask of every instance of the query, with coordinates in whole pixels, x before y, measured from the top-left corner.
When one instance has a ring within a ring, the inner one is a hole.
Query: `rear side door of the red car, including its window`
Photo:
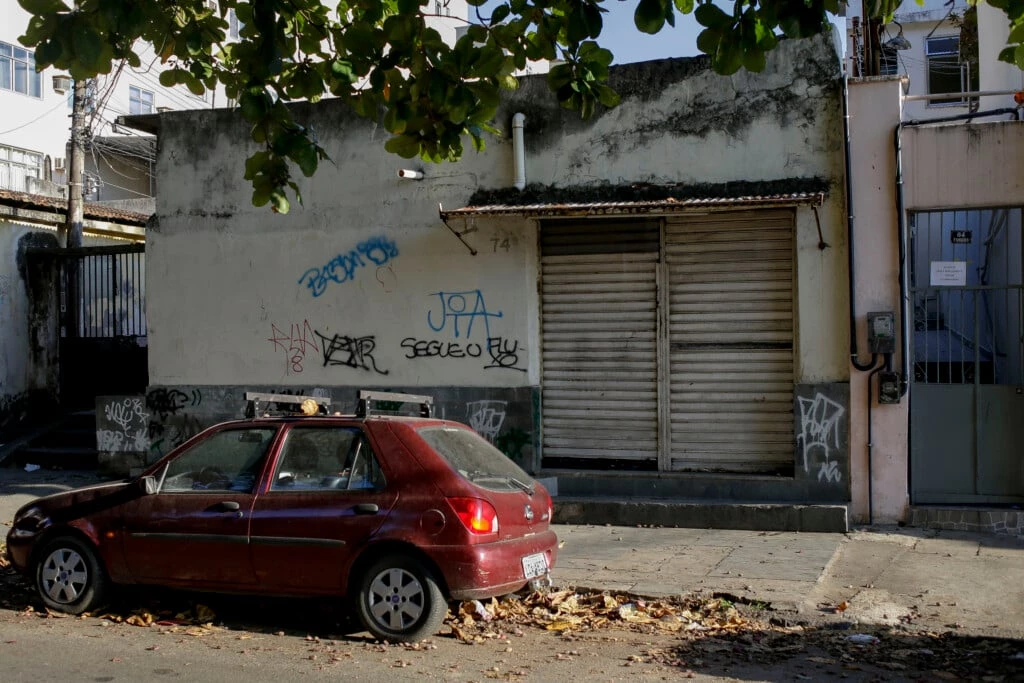
[[[253,507],[250,543],[260,585],[284,593],[343,592],[351,553],[396,499],[357,426],[292,427],[268,489]]]

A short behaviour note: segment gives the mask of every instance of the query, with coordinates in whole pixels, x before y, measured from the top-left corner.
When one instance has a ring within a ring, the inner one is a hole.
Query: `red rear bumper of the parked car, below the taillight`
[[[454,600],[480,600],[514,593],[525,586],[522,558],[544,553],[548,569],[555,565],[558,537],[548,530],[526,538],[472,546],[424,548],[440,567]]]

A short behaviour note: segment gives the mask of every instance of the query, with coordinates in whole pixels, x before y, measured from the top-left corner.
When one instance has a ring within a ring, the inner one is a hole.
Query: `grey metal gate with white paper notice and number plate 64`
[[[1021,209],[910,216],[910,488],[918,504],[1024,501]]]

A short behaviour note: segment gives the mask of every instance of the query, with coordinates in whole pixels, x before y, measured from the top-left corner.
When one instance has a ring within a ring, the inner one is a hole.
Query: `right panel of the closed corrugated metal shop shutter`
[[[673,470],[793,467],[794,213],[670,219]]]

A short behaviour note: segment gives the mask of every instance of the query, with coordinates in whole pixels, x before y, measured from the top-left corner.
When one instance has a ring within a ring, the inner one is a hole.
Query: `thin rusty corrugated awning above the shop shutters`
[[[705,197],[636,202],[573,202],[549,204],[489,204],[466,206],[461,209],[441,209],[441,218],[460,216],[526,216],[526,217],[581,217],[622,216],[634,214],[685,213],[694,210],[733,208],[820,206],[825,200],[823,191],[788,193],[778,195],[751,195],[746,197]]]

